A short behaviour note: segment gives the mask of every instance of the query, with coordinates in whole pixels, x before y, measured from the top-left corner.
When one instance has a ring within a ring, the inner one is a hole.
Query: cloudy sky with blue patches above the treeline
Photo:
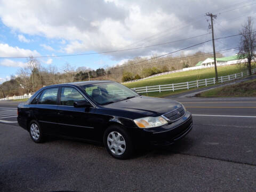
[[[48,56],[38,61],[60,72],[65,63],[92,69],[122,65],[135,57],[166,54],[210,40],[208,12],[217,15],[215,38],[236,35],[247,17],[256,22],[255,8],[255,0],[0,0],[0,83],[26,66],[26,58],[13,57]],[[149,47],[138,48],[145,46]],[[239,36],[215,42],[217,51],[237,46]],[[126,50],[133,48],[137,49]],[[116,50],[126,51],[100,53]],[[170,55],[197,51],[212,52],[212,42]],[[86,54],[54,57],[81,53]]]

